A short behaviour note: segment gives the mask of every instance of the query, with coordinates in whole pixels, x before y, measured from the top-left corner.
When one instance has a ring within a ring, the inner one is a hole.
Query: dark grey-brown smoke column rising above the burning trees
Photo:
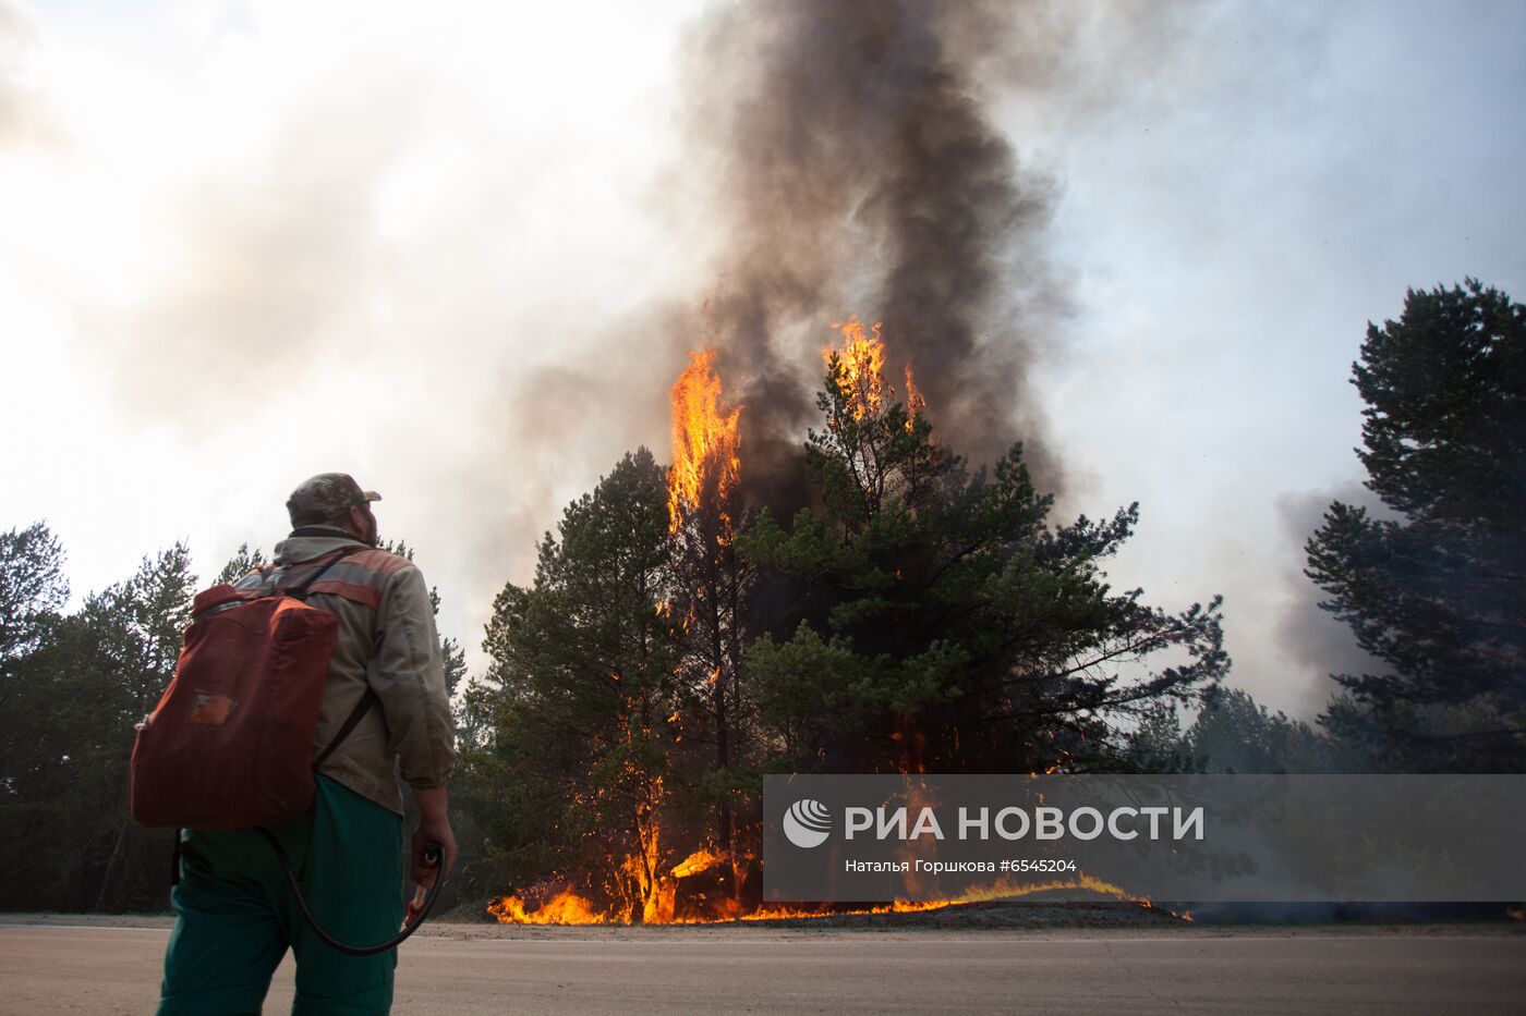
[[[830,322],[882,320],[940,439],[989,462],[1016,438],[1059,476],[1027,371],[1064,291],[1039,253],[1054,186],[1024,172],[971,69],[1022,9],[920,0],[728,5],[690,35],[687,128],[725,230],[707,304],[740,387],[743,473],[772,488],[815,423]],[[1025,40],[1032,43],[1033,40]]]

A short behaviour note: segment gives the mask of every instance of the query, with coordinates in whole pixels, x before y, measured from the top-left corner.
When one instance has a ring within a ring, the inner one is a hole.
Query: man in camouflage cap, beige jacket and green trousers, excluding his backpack
[[[314,744],[313,809],[270,831],[317,921],[356,946],[385,941],[403,920],[397,772],[420,812],[412,879],[433,883],[435,870],[424,866],[432,841],[444,848],[446,868],[456,859],[446,790],[455,729],[433,609],[420,571],[375,549],[375,500],[380,494],[343,473],[307,479],[287,500],[293,529],[276,545],[275,564],[237,584],[273,592],[313,578],[307,603],[339,621]],[[179,920],[165,955],[160,1016],[258,1013],[288,947],[295,1013],[391,1010],[397,950],[351,957],[322,943],[259,830],[185,831],[172,900]]]

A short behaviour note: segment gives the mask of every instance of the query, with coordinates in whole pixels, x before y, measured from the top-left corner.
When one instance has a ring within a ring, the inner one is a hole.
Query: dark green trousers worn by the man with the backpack
[[[317,776],[313,809],[272,828],[324,929],[351,946],[397,934],[403,921],[403,819]],[[397,950],[349,957],[324,944],[291,899],[275,850],[258,830],[182,833],[179,920],[165,953],[159,1016],[258,1013],[291,949],[293,1013],[375,1016],[392,1008]]]

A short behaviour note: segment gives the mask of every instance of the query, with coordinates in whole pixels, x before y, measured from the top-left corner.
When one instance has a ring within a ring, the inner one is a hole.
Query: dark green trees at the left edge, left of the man
[[[29,651],[8,661],[0,836],[47,848],[18,851],[0,906],[163,905],[169,833],[128,818],[128,755],[133,725],[174,673],[194,584],[177,543],[78,612],[50,613]]]

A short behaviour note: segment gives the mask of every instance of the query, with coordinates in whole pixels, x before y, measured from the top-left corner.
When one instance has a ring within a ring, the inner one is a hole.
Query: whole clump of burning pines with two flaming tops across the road
[[[1134,506],[1051,528],[1021,445],[969,471],[909,366],[903,397],[887,381],[881,328],[838,328],[789,529],[740,503],[742,410],[697,352],[673,465],[626,456],[499,596],[485,757],[514,813],[490,860],[530,886],[502,918],[757,915],[765,769],[1080,769],[1112,717],[1222,673],[1216,603],[1169,615],[1103,581]]]

